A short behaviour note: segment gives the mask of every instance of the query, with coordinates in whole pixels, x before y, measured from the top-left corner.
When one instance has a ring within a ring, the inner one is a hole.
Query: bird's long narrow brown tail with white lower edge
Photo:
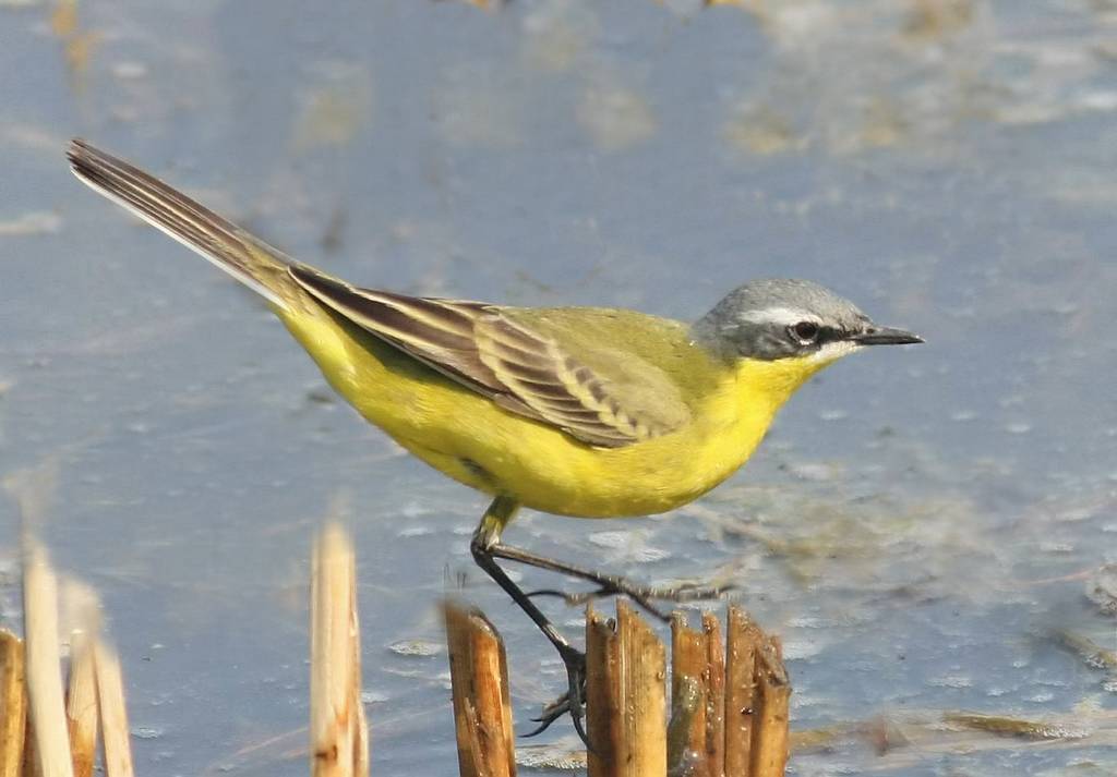
[[[287,272],[296,263],[162,181],[83,140],[66,150],[77,178],[99,194],[197,251],[280,309],[305,299]]]

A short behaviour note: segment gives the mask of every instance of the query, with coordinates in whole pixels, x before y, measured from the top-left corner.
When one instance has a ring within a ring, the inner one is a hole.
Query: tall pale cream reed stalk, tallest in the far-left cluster
[[[46,550],[29,538],[23,546],[23,624],[36,771],[74,777],[58,659],[58,582]]]

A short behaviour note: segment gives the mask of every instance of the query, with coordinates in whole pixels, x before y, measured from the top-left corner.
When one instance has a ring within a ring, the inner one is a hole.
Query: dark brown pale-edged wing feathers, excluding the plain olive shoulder
[[[359,289],[300,265],[290,275],[361,328],[502,407],[582,442],[619,448],[675,429],[623,406],[608,380],[499,307]]]

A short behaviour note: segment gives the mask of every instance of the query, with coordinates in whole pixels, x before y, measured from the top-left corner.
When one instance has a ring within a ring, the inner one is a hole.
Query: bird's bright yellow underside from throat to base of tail
[[[414,455],[480,491],[557,515],[640,516],[694,500],[745,462],[782,402],[767,392],[750,397],[750,376],[729,372],[682,430],[593,448],[502,410],[328,314],[284,320],[331,385]]]

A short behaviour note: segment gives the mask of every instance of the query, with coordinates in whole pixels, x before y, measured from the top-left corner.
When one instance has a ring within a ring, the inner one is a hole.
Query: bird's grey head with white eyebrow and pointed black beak
[[[832,362],[865,345],[923,343],[878,326],[848,299],[810,280],[754,280],[731,291],[694,325],[695,342],[726,358]]]

